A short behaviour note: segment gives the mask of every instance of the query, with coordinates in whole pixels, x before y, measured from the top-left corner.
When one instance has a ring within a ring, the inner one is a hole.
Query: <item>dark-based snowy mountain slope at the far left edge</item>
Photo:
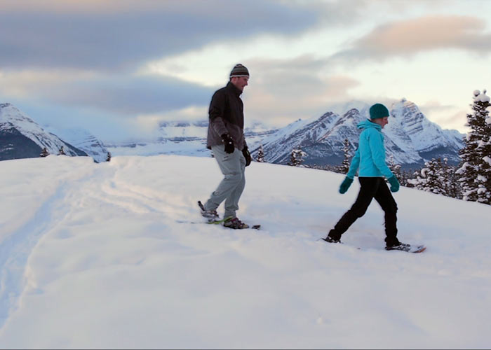
[[[0,160],[39,157],[42,148],[58,154],[87,155],[59,137],[43,130],[12,104],[0,104]]]

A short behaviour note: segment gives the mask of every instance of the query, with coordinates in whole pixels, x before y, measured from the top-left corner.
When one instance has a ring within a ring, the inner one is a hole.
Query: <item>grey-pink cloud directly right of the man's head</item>
[[[255,75],[243,94],[246,118],[286,125],[298,118],[325,113],[329,104],[351,99],[358,81],[347,76],[325,76],[325,60],[311,56],[295,59],[255,59],[248,62]]]

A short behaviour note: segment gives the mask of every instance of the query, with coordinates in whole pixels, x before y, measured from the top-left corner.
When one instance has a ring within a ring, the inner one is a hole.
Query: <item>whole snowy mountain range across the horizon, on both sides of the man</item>
[[[266,162],[286,164],[292,149],[302,148],[307,153],[306,165],[339,165],[344,158],[344,140],[349,141],[351,153],[358,146],[361,130],[356,125],[369,117],[369,107],[365,102],[339,104],[320,117],[278,129],[256,123],[245,129],[245,139],[253,156],[262,146]],[[464,134],[443,130],[406,99],[392,104],[389,111],[389,124],[382,130],[387,159],[403,169],[419,168],[431,158],[447,158],[454,165],[460,161]],[[112,155],[210,156],[207,128],[208,120],[164,122],[159,125],[159,137],[152,141],[105,144],[86,130],[45,130],[11,104],[0,104],[0,160],[38,157],[43,147],[58,154],[63,145],[67,154],[90,155],[96,162],[104,161],[108,151]]]

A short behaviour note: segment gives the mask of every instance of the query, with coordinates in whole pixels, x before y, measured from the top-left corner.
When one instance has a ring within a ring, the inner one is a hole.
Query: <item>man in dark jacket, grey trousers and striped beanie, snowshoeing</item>
[[[213,151],[224,179],[210,199],[201,205],[201,215],[211,223],[219,221],[218,206],[225,201],[224,226],[243,229],[249,226],[238,220],[238,200],[245,187],[245,167],[251,157],[244,139],[244,113],[241,94],[248,85],[249,71],[236,64],[227,86],[217,90],[210,102],[210,123],[206,146]]]

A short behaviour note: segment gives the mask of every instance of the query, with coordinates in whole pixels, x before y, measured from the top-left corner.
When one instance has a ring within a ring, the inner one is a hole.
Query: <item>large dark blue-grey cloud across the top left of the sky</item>
[[[264,32],[292,34],[318,13],[282,1],[3,1],[0,66],[134,70],[150,59]]]

